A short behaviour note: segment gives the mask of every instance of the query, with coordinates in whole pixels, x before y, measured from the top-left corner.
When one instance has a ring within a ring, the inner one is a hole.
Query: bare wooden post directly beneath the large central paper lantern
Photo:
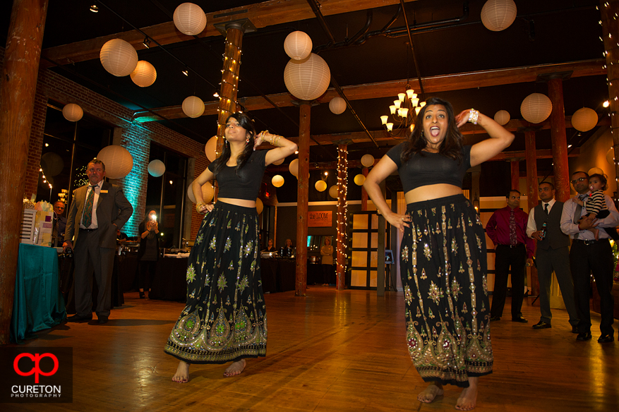
[[[299,104],[299,188],[296,190],[296,272],[295,296],[306,296],[307,290],[307,217],[309,199],[309,141],[311,102]]]

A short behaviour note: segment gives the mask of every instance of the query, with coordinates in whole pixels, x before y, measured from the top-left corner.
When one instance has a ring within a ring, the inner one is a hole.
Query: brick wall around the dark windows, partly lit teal
[[[0,67],[3,62],[4,48],[0,47]],[[174,150],[174,152],[184,154],[186,157],[195,157],[196,168],[193,178],[198,177],[208,166],[209,162],[204,153],[204,145],[187,138],[185,135],[176,133],[160,123],[132,123],[132,110],[92,92],[92,90],[88,90],[86,87],[78,85],[53,71],[43,69],[39,72],[37,80],[24,193],[37,192],[48,99],[54,99],[61,104],[79,104],[83,111],[90,114],[90,116],[123,129],[121,146],[131,153],[133,169],[126,178],[116,181],[116,184],[124,189],[127,199],[133,205],[133,216],[123,229],[128,236],[138,235],[138,225],[145,213],[146,186],[148,182],[147,166],[151,141]],[[191,183],[193,178],[188,176],[188,183]],[[202,216],[193,211],[190,238],[196,236],[201,220]]]

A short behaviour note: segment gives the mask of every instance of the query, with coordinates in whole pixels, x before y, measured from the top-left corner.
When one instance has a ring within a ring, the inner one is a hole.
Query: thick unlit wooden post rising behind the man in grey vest
[[[565,202],[570,198],[570,165],[567,164],[567,138],[565,136],[562,79],[551,78],[551,80],[548,80],[548,97],[553,102],[551,141],[553,145],[555,199],[559,202]]]

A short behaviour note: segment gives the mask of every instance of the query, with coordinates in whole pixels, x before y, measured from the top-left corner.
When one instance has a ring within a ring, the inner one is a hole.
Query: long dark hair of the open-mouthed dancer
[[[426,137],[423,135],[423,117],[426,116],[426,109],[434,104],[442,104],[445,107],[448,122],[447,135],[445,135],[443,143],[440,143],[438,152],[443,154],[443,156],[462,162],[462,154],[460,154],[460,151],[462,150],[463,137],[455,121],[454,108],[450,102],[439,99],[438,97],[430,97],[427,99],[426,106],[422,107],[421,111],[419,111],[419,116],[417,116],[415,122],[415,128],[409,137],[409,143],[404,147],[404,150],[402,150],[402,162],[407,162],[414,153],[423,156],[423,149],[428,145],[428,140],[426,140]]]

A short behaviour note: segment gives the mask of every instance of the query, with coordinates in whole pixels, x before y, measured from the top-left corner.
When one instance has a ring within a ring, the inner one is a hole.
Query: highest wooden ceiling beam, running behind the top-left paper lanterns
[[[367,10],[368,8],[390,6],[392,4],[399,4],[399,0],[327,0],[320,2],[320,12],[323,13],[323,16],[332,16],[334,14]],[[248,19],[256,28],[260,29],[309,18],[315,18],[315,15],[306,0],[264,1],[263,3],[206,13],[207,26],[198,37],[221,36],[215,25],[239,19]],[[176,30],[172,21],[152,25],[140,30],[145,32],[150,39],[162,45],[193,40],[193,36],[184,35],[179,30]],[[126,40],[136,50],[145,49],[145,46],[142,44],[144,35],[138,30],[129,30],[127,32],[119,32],[113,35],[44,49],[40,66],[47,68],[55,66],[53,62],[64,65],[98,59],[103,44],[112,39]],[[157,44],[154,42],[150,45],[150,48],[153,47],[157,47]]]

